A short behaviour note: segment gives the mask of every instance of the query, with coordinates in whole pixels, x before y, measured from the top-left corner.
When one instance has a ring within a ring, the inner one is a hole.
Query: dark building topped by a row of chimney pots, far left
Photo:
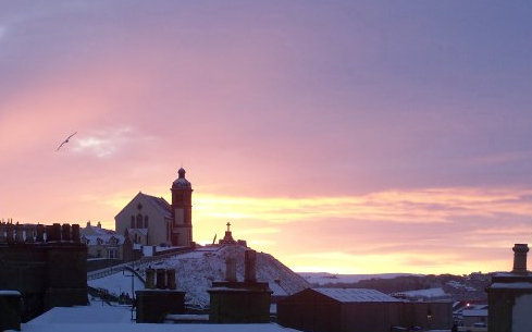
[[[0,223],[0,291],[22,295],[22,321],[87,305],[87,246],[79,225]]]

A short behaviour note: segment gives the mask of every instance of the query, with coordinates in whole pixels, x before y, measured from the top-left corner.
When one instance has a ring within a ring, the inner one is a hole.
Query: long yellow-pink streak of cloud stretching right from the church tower
[[[251,198],[198,195],[206,218],[259,219],[272,223],[357,219],[394,223],[448,223],[456,218],[532,216],[532,189],[426,188],[360,196]]]

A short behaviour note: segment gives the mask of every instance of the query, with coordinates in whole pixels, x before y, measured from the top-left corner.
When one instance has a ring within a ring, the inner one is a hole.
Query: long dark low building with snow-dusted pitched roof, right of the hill
[[[277,302],[277,322],[312,332],[388,332],[392,327],[448,330],[449,302],[411,303],[375,290],[307,288]]]

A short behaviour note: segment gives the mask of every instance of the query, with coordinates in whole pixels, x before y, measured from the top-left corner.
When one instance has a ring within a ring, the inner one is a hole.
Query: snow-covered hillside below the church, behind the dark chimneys
[[[175,269],[177,288],[186,292],[185,302],[206,307],[209,304],[207,290],[211,287],[212,281],[221,281],[225,276],[226,257],[231,256],[236,259],[237,279],[238,281],[244,280],[245,251],[245,247],[237,245],[202,247],[191,253],[172,256],[160,261],[137,265],[135,270],[138,269],[138,272],[143,274],[148,267],[153,269]],[[277,294],[289,295],[310,286],[304,278],[264,253],[257,253],[257,280],[268,281],[271,285],[270,288]],[[138,283],[138,280],[135,282]],[[124,276],[122,273],[115,273],[106,278],[90,280],[88,284],[91,287],[108,288],[110,293],[119,295],[121,292],[131,290],[132,281],[131,278]],[[276,294],[274,293],[274,295]]]

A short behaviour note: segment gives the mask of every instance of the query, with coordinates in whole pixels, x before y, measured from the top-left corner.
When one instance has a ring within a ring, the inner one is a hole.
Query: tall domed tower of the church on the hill
[[[173,246],[189,247],[193,242],[193,188],[185,179],[185,170],[181,168],[178,176],[172,184],[171,241]]]

